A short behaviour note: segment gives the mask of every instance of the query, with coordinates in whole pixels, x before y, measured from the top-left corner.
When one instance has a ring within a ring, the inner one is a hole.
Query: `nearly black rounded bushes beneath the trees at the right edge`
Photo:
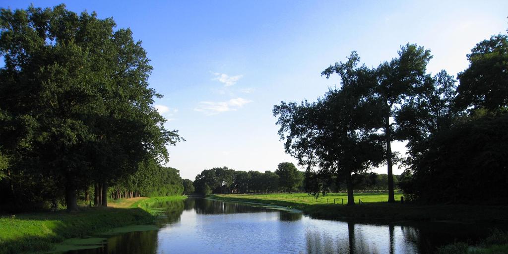
[[[508,114],[458,123],[428,142],[405,193],[428,202],[508,203]]]

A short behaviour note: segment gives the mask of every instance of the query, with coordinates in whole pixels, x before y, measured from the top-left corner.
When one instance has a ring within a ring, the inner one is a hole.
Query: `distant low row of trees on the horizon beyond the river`
[[[303,190],[303,172],[292,163],[280,163],[275,172],[235,171],[228,167],[203,170],[193,185],[198,194],[274,193]]]

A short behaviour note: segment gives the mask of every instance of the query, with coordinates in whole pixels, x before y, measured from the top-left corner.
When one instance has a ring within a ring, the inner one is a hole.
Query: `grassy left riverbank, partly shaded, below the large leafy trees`
[[[136,198],[111,207],[81,207],[78,212],[22,213],[0,217],[0,254],[45,251],[55,243],[130,225],[153,225],[151,204],[185,196]]]

